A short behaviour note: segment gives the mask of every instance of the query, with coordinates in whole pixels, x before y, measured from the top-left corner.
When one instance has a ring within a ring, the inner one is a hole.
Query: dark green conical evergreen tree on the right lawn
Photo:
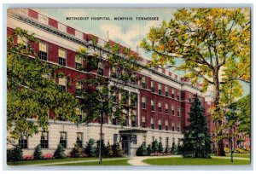
[[[189,127],[184,131],[183,157],[211,158],[211,136],[208,135],[207,119],[197,95],[189,113]]]

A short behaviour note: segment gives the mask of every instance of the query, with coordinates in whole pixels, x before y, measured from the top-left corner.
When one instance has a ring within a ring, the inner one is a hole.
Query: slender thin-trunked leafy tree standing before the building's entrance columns
[[[131,53],[130,49],[124,49],[125,56],[120,56],[120,45],[111,46],[108,42],[104,48],[100,48],[95,43],[92,49],[95,54],[88,55],[87,49],[79,49],[77,55],[85,62],[82,69],[87,73],[87,78],[78,79],[84,85],[81,91],[81,109],[86,112],[86,117],[82,120],[86,124],[97,121],[100,125],[100,143],[102,149],[102,124],[108,117],[116,119],[119,125],[128,125],[128,119],[136,117],[133,114],[133,104],[129,103],[129,92],[124,90],[125,86],[131,86],[136,81],[136,72],[139,70],[137,55]],[[103,58],[103,52],[109,52],[108,58]],[[106,62],[108,61],[108,62]],[[111,77],[104,76],[102,67],[111,69]],[[121,97],[119,98],[119,94]],[[102,163],[102,151],[99,150],[99,163]]]

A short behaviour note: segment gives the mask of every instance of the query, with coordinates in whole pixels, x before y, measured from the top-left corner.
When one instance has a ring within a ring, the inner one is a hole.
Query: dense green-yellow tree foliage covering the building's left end
[[[23,42],[16,44],[15,38]],[[37,43],[33,34],[20,28],[7,39],[7,131],[15,140],[39,128],[47,131],[49,111],[55,119],[78,119],[75,97],[55,84],[56,78],[64,77],[57,73],[61,67],[41,61],[32,47]]]

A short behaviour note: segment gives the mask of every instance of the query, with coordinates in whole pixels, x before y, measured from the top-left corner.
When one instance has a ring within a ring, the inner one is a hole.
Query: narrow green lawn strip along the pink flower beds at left
[[[97,158],[67,158],[67,159],[42,159],[42,160],[23,160],[16,162],[7,162],[7,165],[37,165],[37,164],[47,164],[55,162],[64,162],[64,161],[76,161],[76,160],[91,160]]]

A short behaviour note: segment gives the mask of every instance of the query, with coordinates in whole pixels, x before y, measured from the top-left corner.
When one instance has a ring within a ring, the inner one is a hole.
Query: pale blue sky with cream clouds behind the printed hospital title
[[[93,34],[99,38],[111,39],[140,53],[150,60],[150,54],[138,48],[140,41],[147,35],[150,26],[160,26],[162,20],[169,21],[177,9],[171,8],[98,8],[98,9],[36,9],[67,26],[73,26],[81,32]],[[67,20],[67,17],[109,17],[111,20]],[[113,20],[114,17],[132,17],[133,20]],[[136,17],[159,17],[159,20],[136,20]],[[174,69],[172,69],[174,71]],[[174,71],[175,72],[175,71]],[[183,76],[183,72],[175,72]],[[241,83],[243,96],[250,93],[250,85]]]

